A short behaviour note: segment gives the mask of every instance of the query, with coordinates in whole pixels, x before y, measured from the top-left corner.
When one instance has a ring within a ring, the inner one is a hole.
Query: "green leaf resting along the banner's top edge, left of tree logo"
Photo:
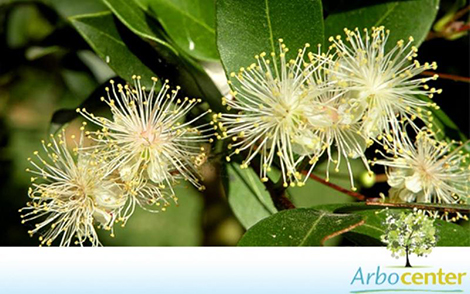
[[[332,237],[360,226],[362,217],[326,210],[284,210],[249,229],[240,246],[321,246]]]

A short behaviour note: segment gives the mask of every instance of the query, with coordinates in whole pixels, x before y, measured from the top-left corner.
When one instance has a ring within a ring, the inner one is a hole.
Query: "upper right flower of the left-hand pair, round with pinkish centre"
[[[208,123],[191,125],[210,110],[184,122],[201,99],[178,98],[180,87],[171,90],[168,81],[156,92],[156,78],[146,92],[140,76],[133,79],[135,88],[118,84],[116,89],[113,81],[111,89],[106,88],[107,98],[101,100],[111,108],[111,119],[77,109],[102,128],[90,133],[98,143],[91,150],[98,149],[110,170],[119,171],[140,205],[159,205],[165,198],[159,190],[165,188],[176,199],[172,185],[180,179],[203,189],[198,167],[206,159],[203,145],[212,141],[213,128]]]

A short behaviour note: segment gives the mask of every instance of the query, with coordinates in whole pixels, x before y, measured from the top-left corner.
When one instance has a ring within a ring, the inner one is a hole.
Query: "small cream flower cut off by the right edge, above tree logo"
[[[391,155],[375,163],[387,167],[389,196],[397,202],[466,203],[469,197],[469,154],[462,146],[436,141],[421,131],[414,144],[407,135],[397,142],[397,152],[385,145]],[[381,152],[379,152],[381,153]]]

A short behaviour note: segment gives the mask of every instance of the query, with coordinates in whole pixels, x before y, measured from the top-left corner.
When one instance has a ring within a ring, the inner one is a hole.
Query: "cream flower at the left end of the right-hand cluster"
[[[222,138],[231,138],[230,157],[244,153],[242,167],[246,168],[260,155],[260,177],[267,181],[273,161],[279,160],[284,185],[295,185],[301,179],[297,171],[306,154],[317,149],[310,138],[304,116],[308,92],[306,81],[314,64],[305,61],[309,44],[288,60],[288,48],[279,40],[280,53],[256,55],[256,63],[231,73],[232,97],[224,97],[232,113],[214,115]],[[313,141],[312,141],[313,140]]]

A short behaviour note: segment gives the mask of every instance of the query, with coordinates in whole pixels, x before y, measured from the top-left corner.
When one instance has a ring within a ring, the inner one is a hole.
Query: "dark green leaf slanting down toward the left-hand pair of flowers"
[[[121,77],[131,81],[134,74],[142,76],[142,82],[151,86],[151,77],[156,74],[144,61],[135,56],[128,44],[121,38],[118,27],[110,12],[81,15],[70,18],[73,26],[93,48],[107,61]]]

